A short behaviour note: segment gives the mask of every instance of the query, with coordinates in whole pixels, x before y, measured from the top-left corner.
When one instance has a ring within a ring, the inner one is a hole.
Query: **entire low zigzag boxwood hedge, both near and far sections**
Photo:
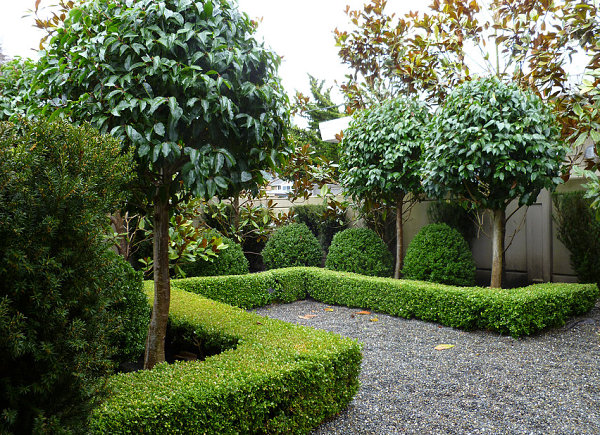
[[[151,298],[151,285],[147,293]],[[114,393],[95,413],[92,431],[306,433],[347,406],[358,388],[361,354],[355,341],[222,302],[250,308],[311,296],[327,304],[519,337],[589,311],[599,293],[595,284],[502,290],[310,267],[174,280],[171,330],[222,352],[204,361],[112,377]]]

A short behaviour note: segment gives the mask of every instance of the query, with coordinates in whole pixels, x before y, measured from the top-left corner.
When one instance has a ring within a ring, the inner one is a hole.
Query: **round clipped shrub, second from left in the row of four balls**
[[[304,224],[277,229],[262,251],[267,269],[295,266],[321,266],[323,251],[319,241]]]

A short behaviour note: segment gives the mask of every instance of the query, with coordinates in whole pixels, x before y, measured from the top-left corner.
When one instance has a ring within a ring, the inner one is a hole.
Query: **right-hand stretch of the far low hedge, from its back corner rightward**
[[[460,329],[529,335],[562,326],[591,310],[600,291],[595,284],[536,284],[516,289],[455,287],[423,281],[371,278],[310,270],[309,295],[326,304],[371,309]]]

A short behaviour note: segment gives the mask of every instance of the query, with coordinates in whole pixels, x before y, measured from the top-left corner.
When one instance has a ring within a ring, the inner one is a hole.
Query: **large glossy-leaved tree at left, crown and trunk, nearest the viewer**
[[[53,29],[34,89],[50,116],[88,120],[133,147],[154,227],[145,367],[164,361],[169,213],[178,192],[256,190],[283,149],[279,58],[225,0],[85,1]],[[51,114],[52,113],[52,114]]]

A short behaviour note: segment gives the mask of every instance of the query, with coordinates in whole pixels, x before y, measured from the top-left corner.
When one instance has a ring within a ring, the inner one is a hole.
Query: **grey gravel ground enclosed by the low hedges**
[[[518,340],[329,307],[255,310],[364,343],[360,390],[314,434],[600,434],[600,304]]]

